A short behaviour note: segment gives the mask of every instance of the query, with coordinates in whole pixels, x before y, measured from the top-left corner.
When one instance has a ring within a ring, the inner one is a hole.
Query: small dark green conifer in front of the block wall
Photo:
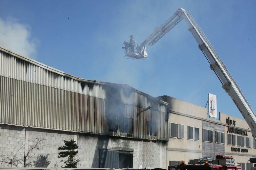
[[[74,141],[74,139],[69,139],[69,141],[63,140],[63,142],[65,145],[58,147],[58,150],[61,150],[58,158],[66,158],[65,160],[62,160],[62,162],[65,163],[64,168],[76,168],[80,161],[75,158],[78,153],[78,150],[76,150],[78,148],[76,141]]]

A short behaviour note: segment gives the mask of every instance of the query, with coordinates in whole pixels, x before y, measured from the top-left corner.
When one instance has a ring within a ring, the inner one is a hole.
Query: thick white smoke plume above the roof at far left
[[[0,46],[35,59],[38,40],[32,38],[28,26],[13,18],[0,18]]]

